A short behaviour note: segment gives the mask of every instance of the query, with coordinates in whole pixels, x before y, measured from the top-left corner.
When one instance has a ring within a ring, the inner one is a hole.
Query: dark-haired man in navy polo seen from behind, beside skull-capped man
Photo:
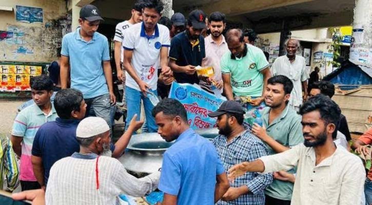
[[[79,152],[76,128],[84,118],[87,105],[79,90],[64,89],[55,95],[55,121],[44,124],[35,135],[31,151],[33,172],[45,189],[54,162]]]

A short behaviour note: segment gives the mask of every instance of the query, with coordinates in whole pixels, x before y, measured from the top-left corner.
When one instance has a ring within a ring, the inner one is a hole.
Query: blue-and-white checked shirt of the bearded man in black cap
[[[245,125],[246,130],[231,141],[227,141],[226,136],[218,135],[213,139],[213,145],[221,158],[223,166],[227,172],[231,166],[242,163],[243,161],[254,161],[268,154],[263,142],[254,136]],[[272,173],[260,174],[257,172],[247,172],[235,179],[230,184],[231,187],[247,186],[248,194],[239,196],[232,201],[218,201],[218,205],[242,204],[242,205],[263,205],[265,203],[264,189],[272,182]]]

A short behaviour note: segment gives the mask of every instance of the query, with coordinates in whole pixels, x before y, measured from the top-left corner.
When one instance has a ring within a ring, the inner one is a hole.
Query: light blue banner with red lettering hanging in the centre
[[[217,98],[199,86],[178,84],[173,82],[169,98],[179,100],[187,112],[188,124],[192,129],[207,129],[216,127],[216,119],[208,113],[216,111],[226,98]]]

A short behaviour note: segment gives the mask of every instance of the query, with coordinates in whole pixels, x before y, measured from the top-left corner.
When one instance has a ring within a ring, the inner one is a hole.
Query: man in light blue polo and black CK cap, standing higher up
[[[86,115],[95,115],[111,125],[110,109],[115,103],[107,38],[96,32],[100,11],[93,5],[80,10],[80,27],[62,40],[61,88],[67,88],[70,67],[71,88],[82,91]]]

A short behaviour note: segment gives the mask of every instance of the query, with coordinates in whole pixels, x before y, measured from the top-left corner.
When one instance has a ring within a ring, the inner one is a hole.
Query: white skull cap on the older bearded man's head
[[[101,117],[87,117],[79,122],[76,137],[88,138],[109,131],[110,127]]]

